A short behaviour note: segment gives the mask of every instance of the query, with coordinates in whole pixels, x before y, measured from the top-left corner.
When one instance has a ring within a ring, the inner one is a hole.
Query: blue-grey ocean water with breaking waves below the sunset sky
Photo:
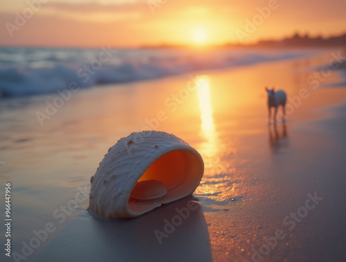
[[[0,99],[89,88],[316,54],[316,50],[0,47]]]

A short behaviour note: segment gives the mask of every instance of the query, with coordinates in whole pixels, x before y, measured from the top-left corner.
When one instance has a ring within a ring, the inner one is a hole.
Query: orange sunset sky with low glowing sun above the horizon
[[[346,32],[345,10],[345,0],[0,0],[0,45],[250,43],[294,32],[329,37]],[[251,32],[246,19],[257,23]]]

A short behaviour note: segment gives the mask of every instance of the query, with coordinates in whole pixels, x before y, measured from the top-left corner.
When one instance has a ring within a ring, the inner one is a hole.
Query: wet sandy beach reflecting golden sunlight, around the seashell
[[[345,261],[339,52],[79,89],[55,110],[47,101],[57,93],[0,100],[0,191],[4,201],[2,185],[11,183],[12,259]],[[285,123],[268,125],[265,86],[288,94]],[[104,154],[147,129],[173,133],[201,153],[205,171],[193,196],[129,220],[89,213],[89,180]],[[169,228],[189,201],[194,208]]]

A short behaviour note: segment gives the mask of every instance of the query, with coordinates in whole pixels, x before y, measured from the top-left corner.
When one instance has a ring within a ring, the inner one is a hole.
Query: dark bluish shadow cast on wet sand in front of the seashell
[[[212,261],[203,209],[195,202],[196,209],[188,209],[192,200],[183,198],[133,219],[100,219],[87,212],[37,261]]]

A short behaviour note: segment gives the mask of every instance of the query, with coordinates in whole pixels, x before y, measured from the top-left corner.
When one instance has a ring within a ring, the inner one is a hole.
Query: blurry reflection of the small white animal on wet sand
[[[289,138],[287,133],[286,122],[282,122],[279,126],[276,124],[268,126],[269,146],[273,153],[280,153],[282,149],[289,146]]]

